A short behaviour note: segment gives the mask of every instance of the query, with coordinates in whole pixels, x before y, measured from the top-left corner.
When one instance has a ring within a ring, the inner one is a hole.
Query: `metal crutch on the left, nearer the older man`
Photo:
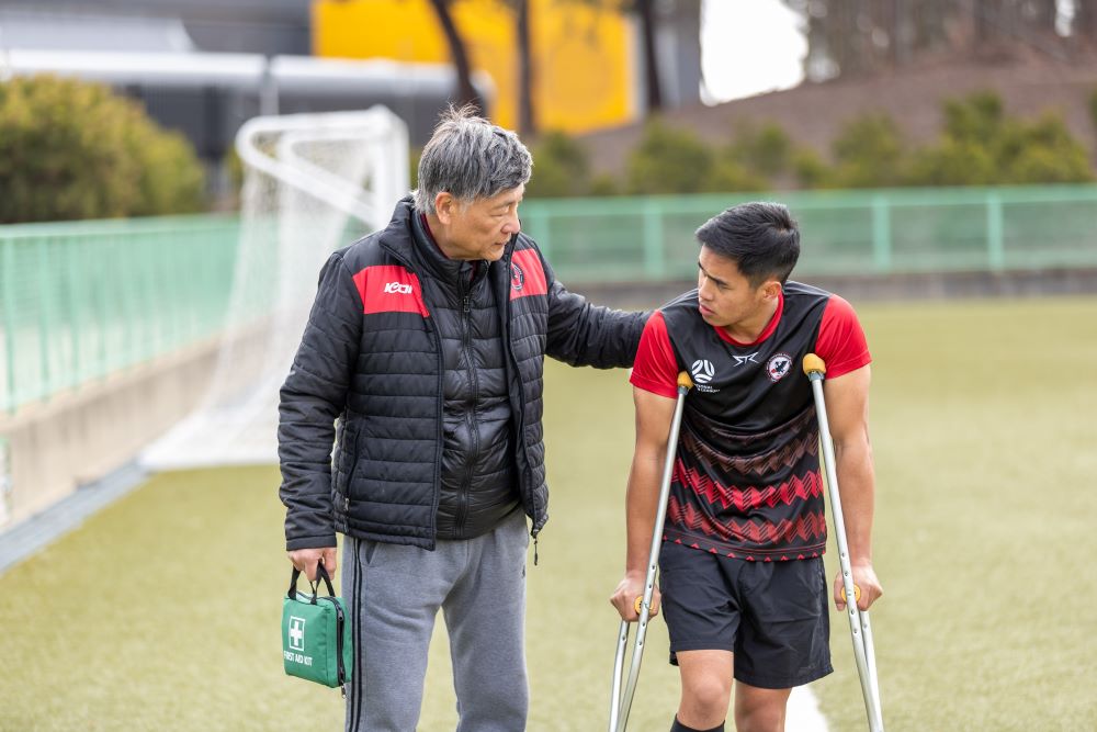
[[[652,529],[652,549],[647,554],[647,578],[644,581],[644,595],[636,598],[636,612],[640,613],[640,624],[636,627],[636,645],[632,652],[632,665],[629,668],[629,683],[621,696],[621,677],[624,672],[624,652],[629,645],[629,621],[621,621],[618,632],[618,652],[613,660],[613,691],[610,695],[609,732],[624,732],[629,724],[629,711],[632,709],[632,698],[636,694],[636,680],[640,678],[640,662],[644,656],[644,638],[647,635],[647,620],[652,612],[652,595],[655,593],[655,573],[659,566],[659,549],[663,548],[663,522],[667,517],[667,496],[670,494],[670,478],[675,471],[675,457],[678,453],[678,428],[682,420],[682,406],[686,394],[693,387],[693,380],[682,371],[678,374],[678,403],[675,404],[675,416],[670,421],[670,437],[667,439],[667,459],[663,468],[663,485],[659,487],[659,507],[655,514],[655,527]]]

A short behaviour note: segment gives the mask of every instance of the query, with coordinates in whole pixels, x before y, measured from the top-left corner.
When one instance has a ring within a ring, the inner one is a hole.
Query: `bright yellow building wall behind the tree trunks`
[[[448,63],[449,46],[427,0],[316,0],[314,53],[346,58]],[[474,69],[495,82],[491,116],[518,124],[514,16],[499,0],[453,7]],[[584,132],[634,117],[630,21],[574,0],[531,0],[534,111],[542,129]]]

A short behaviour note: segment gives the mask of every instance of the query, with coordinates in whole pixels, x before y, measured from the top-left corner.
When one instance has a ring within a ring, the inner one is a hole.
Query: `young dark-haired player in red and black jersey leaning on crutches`
[[[784,729],[793,686],[830,673],[824,485],[806,353],[824,382],[858,607],[872,570],[869,351],[849,304],[788,281],[800,232],[776,203],[728,209],[697,230],[698,289],[648,320],[632,375],[636,449],[627,560],[612,604],[637,618],[680,371],[683,409],[659,555],[661,604],[679,666],[672,731],[722,731],[735,684],[739,732]],[[845,609],[840,575],[835,604]],[[658,594],[658,593],[657,593]],[[658,597],[653,601],[658,609]]]

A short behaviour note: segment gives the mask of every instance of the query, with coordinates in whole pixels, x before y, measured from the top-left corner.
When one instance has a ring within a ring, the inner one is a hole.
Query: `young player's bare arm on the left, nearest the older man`
[[[659,505],[659,487],[667,454],[667,439],[675,415],[675,399],[633,387],[636,406],[636,449],[629,471],[629,492],[625,498],[627,550],[624,578],[618,585],[610,603],[624,620],[636,620],[635,601],[644,594],[647,576],[648,550]],[[659,611],[659,589],[652,598],[652,615]]]

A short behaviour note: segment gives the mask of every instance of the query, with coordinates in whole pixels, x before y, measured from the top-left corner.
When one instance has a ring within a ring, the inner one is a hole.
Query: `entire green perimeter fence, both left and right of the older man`
[[[757,198],[800,221],[800,277],[1097,268],[1097,185],[542,200],[522,223],[569,285],[689,280],[694,229]],[[252,280],[280,277],[268,225]],[[230,216],[0,226],[0,410],[218,333],[239,236]]]

